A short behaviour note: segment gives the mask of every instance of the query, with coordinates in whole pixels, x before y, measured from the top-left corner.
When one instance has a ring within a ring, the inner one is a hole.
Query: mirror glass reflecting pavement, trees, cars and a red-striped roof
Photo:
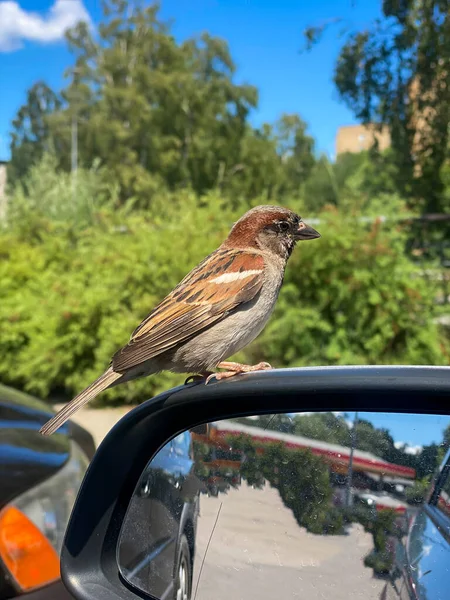
[[[422,548],[427,531],[430,547],[430,531],[440,535],[422,504],[449,423],[298,413],[186,431],[140,478],[120,536],[122,576],[161,600],[400,598],[395,561],[406,541]],[[435,494],[445,518],[449,486]],[[449,549],[440,540],[416,564],[448,564]],[[417,585],[436,577],[434,569]]]

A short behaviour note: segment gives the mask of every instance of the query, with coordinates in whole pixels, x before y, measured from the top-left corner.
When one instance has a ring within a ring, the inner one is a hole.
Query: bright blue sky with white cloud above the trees
[[[206,30],[229,42],[238,66],[236,80],[260,91],[259,109],[252,115],[255,124],[273,121],[282,112],[298,112],[309,124],[318,149],[332,155],[337,128],[354,123],[332,83],[339,28],[307,54],[299,52],[302,32],[336,16],[348,25],[364,27],[379,16],[380,4],[379,0],[162,0],[161,16],[174,19],[173,32],[180,40]],[[89,15],[95,26],[101,17],[100,1],[0,0],[0,159],[9,156],[10,123],[26,90],[39,79],[56,89],[63,84],[63,71],[71,61],[63,31],[83,15]]]

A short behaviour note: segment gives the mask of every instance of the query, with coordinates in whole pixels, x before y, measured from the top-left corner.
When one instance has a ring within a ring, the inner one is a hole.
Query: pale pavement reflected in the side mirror
[[[198,576],[205,549],[220,514]],[[363,565],[371,536],[317,536],[300,528],[278,492],[245,483],[218,498],[201,496],[195,600],[379,600],[384,583]],[[194,594],[193,594],[194,600]]]

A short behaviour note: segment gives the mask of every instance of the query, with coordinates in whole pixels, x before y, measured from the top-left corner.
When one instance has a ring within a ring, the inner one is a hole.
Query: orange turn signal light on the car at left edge
[[[60,577],[55,549],[30,519],[15,506],[0,511],[0,558],[23,591]]]

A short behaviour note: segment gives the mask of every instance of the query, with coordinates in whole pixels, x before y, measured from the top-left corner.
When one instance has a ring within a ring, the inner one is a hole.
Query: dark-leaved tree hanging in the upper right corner
[[[306,30],[308,48],[328,24]],[[396,190],[428,212],[449,207],[442,170],[450,141],[449,47],[446,0],[385,0],[381,19],[351,28],[334,74],[358,121],[389,127]]]

